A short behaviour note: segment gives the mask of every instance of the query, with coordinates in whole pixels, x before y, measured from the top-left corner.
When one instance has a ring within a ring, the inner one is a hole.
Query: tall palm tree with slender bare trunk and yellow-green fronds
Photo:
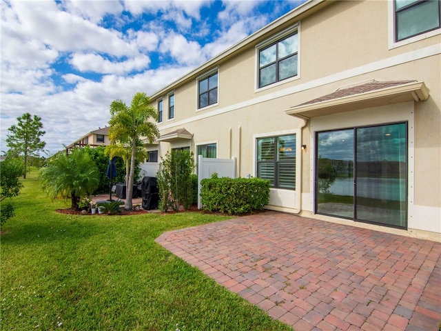
[[[132,193],[134,181],[134,168],[136,159],[136,146],[141,137],[146,137],[150,143],[154,137],[159,136],[156,124],[158,112],[150,106],[150,99],[144,92],[137,92],[128,107],[121,100],[114,100],[110,103],[110,140],[121,143],[123,146],[130,146],[130,173],[127,180],[125,209],[132,210]]]

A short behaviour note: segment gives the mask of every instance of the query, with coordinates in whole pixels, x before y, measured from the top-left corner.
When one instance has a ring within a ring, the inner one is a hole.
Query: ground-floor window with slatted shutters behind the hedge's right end
[[[296,134],[257,139],[257,177],[296,190]]]

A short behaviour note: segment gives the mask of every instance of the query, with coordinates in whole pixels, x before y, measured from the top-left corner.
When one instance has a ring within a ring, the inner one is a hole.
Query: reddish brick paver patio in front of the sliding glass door
[[[280,212],[156,241],[298,331],[440,328],[441,243]]]

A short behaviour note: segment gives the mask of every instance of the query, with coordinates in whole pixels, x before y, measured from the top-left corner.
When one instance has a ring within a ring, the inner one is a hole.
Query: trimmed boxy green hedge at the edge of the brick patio
[[[217,178],[201,181],[203,209],[245,214],[263,210],[269,202],[269,181],[259,178]]]

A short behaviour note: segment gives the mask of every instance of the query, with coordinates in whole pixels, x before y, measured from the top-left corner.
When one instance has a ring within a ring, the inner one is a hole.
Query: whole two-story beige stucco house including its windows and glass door
[[[307,1],[154,93],[147,150],[236,157],[271,210],[441,240],[440,43],[439,1]]]

